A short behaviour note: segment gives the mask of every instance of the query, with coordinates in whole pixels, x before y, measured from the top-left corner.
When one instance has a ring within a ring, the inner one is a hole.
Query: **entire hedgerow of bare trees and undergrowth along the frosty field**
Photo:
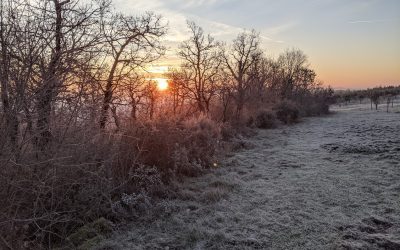
[[[0,248],[117,220],[126,195],[210,166],[235,126],[329,111],[302,51],[268,58],[256,31],[226,44],[193,22],[159,90],[144,72],[167,28],[107,0],[0,2]]]

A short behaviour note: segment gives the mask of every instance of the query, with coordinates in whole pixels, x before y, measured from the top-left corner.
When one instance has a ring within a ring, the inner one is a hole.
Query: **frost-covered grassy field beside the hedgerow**
[[[400,249],[399,111],[350,105],[259,130],[98,248]]]

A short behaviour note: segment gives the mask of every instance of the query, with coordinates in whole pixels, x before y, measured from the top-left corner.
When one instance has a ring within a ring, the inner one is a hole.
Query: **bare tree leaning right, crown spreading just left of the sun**
[[[104,21],[102,30],[106,38],[103,67],[107,69],[100,114],[100,128],[104,129],[119,81],[164,53],[160,38],[166,33],[166,26],[161,17],[153,13],[138,17],[117,14]]]

